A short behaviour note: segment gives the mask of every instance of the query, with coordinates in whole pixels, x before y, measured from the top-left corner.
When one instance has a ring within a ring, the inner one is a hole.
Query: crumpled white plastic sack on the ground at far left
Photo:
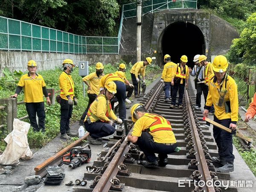
[[[1,165],[16,165],[20,158],[28,160],[33,157],[27,138],[29,127],[30,124],[27,122],[13,120],[13,130],[4,139],[7,146],[0,155]]]

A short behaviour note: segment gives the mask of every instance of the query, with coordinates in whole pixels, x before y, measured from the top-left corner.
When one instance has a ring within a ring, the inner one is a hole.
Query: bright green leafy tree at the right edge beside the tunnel
[[[256,13],[248,17],[240,38],[233,40],[228,58],[236,64],[240,62],[248,65],[256,64]]]

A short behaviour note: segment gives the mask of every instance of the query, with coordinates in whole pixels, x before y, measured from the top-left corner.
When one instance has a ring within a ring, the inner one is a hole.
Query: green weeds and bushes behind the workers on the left
[[[121,61],[119,63],[125,63]],[[115,64],[105,64],[104,65],[104,73],[114,73],[118,70],[119,63]],[[127,79],[131,82],[131,70],[132,64],[129,63],[126,65],[126,72],[125,75]],[[95,66],[89,67],[89,73],[95,71]],[[47,71],[38,71],[44,77],[45,83],[48,88],[55,88],[55,90],[59,90],[58,87],[58,74],[62,72],[61,69],[55,68],[54,70],[47,70]],[[160,73],[160,67],[149,65],[146,68],[146,79],[147,77],[151,76],[147,83],[151,83],[154,80],[155,76],[158,76]],[[6,98],[10,95],[15,93],[15,89],[17,86],[17,82],[20,79],[22,73],[11,73],[8,69],[4,70],[5,77],[0,78],[0,98]],[[151,75],[153,74],[153,75]],[[73,107],[73,114],[72,114],[72,122],[76,122],[80,119],[81,114],[84,112],[85,108],[87,107],[88,98],[87,96],[83,98],[82,92],[82,81],[81,76],[78,75],[78,69],[75,69],[72,73],[72,77],[75,83],[75,95],[78,99],[78,105]],[[86,87],[87,88],[87,87]],[[17,97],[18,101],[23,101],[23,91]],[[29,129],[28,132],[28,142],[30,148],[41,148],[42,146],[46,145],[50,140],[55,138],[59,134],[59,122],[60,122],[60,105],[55,102],[55,105],[47,106],[46,108],[46,131],[45,133],[41,132],[34,132],[32,128]],[[0,116],[5,116],[6,114],[2,111],[0,112]],[[17,117],[20,118],[22,116],[27,115],[26,107],[24,104],[18,105]],[[28,119],[24,119],[23,121],[28,122]],[[3,151],[6,147],[6,143],[4,142],[4,138],[7,135],[7,131],[0,130],[0,151]]]

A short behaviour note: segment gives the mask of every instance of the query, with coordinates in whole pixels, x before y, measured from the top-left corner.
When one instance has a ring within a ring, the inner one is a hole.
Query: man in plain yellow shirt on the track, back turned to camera
[[[164,55],[163,61],[166,64],[163,66],[163,73],[160,81],[164,82],[164,87],[163,87],[163,90],[165,93],[164,102],[168,102],[170,100],[169,87],[171,87],[171,96],[172,96],[172,86],[174,85],[173,79],[176,75],[177,64],[171,61],[171,56],[168,54]]]

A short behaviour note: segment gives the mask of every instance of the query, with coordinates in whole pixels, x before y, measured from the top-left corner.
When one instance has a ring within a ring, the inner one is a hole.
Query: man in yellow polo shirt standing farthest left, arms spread
[[[22,88],[24,88],[24,102],[26,104],[26,111],[29,115],[29,122],[33,131],[45,131],[45,111],[43,94],[46,97],[48,105],[51,104],[49,99],[44,79],[41,75],[36,73],[37,64],[34,60],[28,62],[28,73],[21,76],[17,85],[15,94],[12,98],[18,96]],[[36,121],[38,116],[38,124]]]

